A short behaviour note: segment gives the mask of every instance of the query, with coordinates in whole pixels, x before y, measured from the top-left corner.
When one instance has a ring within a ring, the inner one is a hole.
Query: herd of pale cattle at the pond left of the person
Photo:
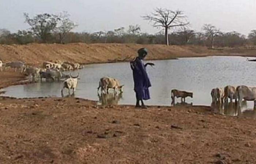
[[[73,62],[61,62],[59,60],[55,62],[43,62],[42,68],[33,67],[33,66],[27,66],[24,62],[8,62],[3,63],[0,60],[0,71],[2,71],[2,68],[8,68],[11,67],[11,69],[14,69],[15,71],[20,70],[21,73],[25,75],[31,75],[32,80],[35,81],[36,79],[45,79],[46,82],[60,81],[61,79],[64,79],[63,88],[61,89],[61,94],[63,95],[63,89],[67,88],[68,93],[70,94],[70,90],[74,91],[76,89],[76,86],[78,84],[79,74],[75,77],[73,77],[70,73],[65,74],[63,71],[71,71],[71,70],[78,70],[82,69],[83,65],[80,65],[79,63],[73,63]],[[108,94],[109,89],[114,90],[114,95],[116,95],[117,90],[120,91],[120,93],[123,92],[123,86],[120,85],[117,79],[109,78],[109,77],[103,77],[99,80],[99,88],[101,88],[101,93]]]

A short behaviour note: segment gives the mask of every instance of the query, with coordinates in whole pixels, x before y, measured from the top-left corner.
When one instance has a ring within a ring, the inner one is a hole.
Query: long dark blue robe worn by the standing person
[[[150,93],[148,88],[151,87],[150,80],[147,75],[146,67],[143,60],[138,57],[131,62],[134,91],[136,93],[136,99],[150,99]]]

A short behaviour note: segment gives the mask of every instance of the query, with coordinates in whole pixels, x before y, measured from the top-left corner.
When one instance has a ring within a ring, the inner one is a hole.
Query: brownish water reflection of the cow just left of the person
[[[117,105],[118,101],[123,98],[123,93],[119,93],[118,95],[109,93],[109,94],[105,94],[105,93],[98,93],[98,97],[99,97],[99,102],[101,103],[101,105],[105,106],[105,105]]]

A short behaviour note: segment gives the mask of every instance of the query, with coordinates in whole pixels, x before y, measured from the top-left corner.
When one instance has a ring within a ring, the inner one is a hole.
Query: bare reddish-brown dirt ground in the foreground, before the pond
[[[256,163],[256,121],[209,107],[0,99],[1,163]]]

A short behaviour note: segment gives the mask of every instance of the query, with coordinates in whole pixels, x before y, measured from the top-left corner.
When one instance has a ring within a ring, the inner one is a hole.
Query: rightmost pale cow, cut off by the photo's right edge
[[[241,106],[242,99],[245,101],[254,101],[254,109],[256,109],[256,87],[248,87],[245,85],[237,86],[238,104]]]

